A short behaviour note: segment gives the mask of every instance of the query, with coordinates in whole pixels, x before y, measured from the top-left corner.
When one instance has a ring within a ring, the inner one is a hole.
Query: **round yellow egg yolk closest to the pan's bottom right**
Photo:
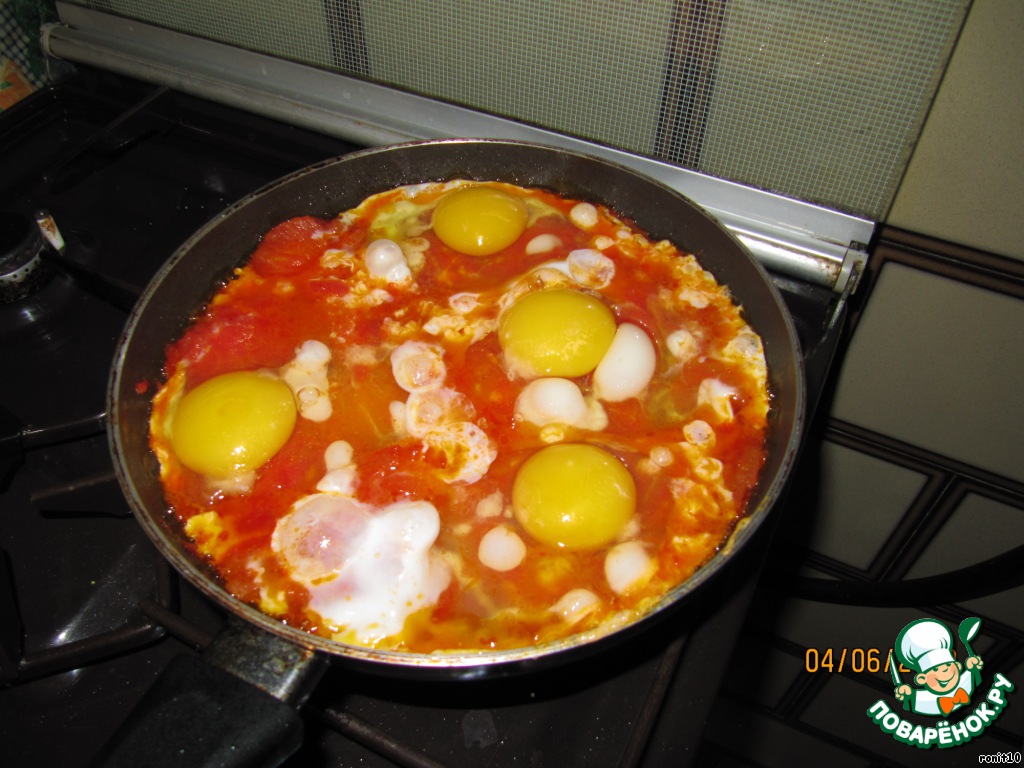
[[[614,541],[636,509],[636,484],[607,451],[584,443],[541,449],[512,485],[512,509],[535,539],[590,550]]]

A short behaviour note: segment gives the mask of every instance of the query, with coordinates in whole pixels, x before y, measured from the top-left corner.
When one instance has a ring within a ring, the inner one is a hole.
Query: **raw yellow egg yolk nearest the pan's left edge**
[[[295,419],[295,397],[281,379],[254,371],[223,374],[181,398],[171,447],[189,469],[236,477],[269,461],[288,441]]]

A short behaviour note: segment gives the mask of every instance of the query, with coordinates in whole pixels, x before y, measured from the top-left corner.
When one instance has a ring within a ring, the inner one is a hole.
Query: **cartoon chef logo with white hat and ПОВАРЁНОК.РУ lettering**
[[[929,720],[915,723],[895,712],[886,699],[867,711],[878,726],[898,741],[920,749],[956,746],[984,733],[1008,703],[1014,685],[996,673],[986,691],[984,663],[971,647],[981,629],[980,618],[965,618],[957,628],[964,646],[958,657],[953,633],[935,618],[910,622],[896,637],[889,660],[893,694],[904,712]],[[905,674],[910,673],[908,679]]]

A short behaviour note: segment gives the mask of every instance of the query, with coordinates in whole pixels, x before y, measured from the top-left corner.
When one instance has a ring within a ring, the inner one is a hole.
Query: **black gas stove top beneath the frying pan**
[[[8,765],[87,765],[161,671],[225,624],[157,554],[115,480],[104,395],[127,311],[228,205],[361,147],[88,67],[0,116],[0,265],[13,252],[0,305],[0,739]],[[773,280],[813,401],[845,297]],[[699,599],[554,669],[409,680],[334,662],[286,764],[690,763],[769,534]]]

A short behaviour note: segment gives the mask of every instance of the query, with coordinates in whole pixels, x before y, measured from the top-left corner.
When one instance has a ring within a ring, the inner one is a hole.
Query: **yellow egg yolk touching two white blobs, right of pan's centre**
[[[512,368],[534,376],[588,374],[614,338],[611,310],[593,296],[566,290],[526,294],[502,315],[498,329]]]

